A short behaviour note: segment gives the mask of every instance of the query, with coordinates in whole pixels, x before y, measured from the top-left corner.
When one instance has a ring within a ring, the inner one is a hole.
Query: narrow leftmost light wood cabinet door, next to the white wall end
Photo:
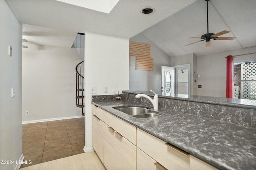
[[[103,162],[103,121],[92,115],[92,147]]]

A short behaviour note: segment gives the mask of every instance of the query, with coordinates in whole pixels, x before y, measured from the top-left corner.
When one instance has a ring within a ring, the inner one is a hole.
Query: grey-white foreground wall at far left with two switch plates
[[[0,160],[15,161],[0,164],[0,169],[14,170],[22,157],[22,24],[4,0],[0,1],[0,22]],[[11,88],[16,91],[14,98]]]

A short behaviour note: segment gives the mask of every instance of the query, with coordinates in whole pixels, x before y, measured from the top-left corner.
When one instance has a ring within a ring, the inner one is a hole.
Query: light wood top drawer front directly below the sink
[[[103,110],[103,121],[136,145],[136,127]]]

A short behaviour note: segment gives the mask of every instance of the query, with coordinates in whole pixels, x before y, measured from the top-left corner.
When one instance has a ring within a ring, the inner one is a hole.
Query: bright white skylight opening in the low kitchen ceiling
[[[109,14],[119,0],[57,0]]]

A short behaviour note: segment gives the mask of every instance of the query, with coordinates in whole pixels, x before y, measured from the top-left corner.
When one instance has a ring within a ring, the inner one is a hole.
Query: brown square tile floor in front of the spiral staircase
[[[84,153],[84,117],[22,125],[21,168]]]

